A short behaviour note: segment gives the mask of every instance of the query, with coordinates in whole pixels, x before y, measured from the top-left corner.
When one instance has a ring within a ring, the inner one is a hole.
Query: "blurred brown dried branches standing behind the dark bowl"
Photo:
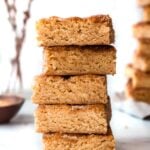
[[[16,0],[12,0],[12,1],[5,0],[5,5],[7,8],[7,13],[8,13],[8,21],[12,27],[12,31],[14,32],[14,42],[15,42],[15,50],[16,50],[16,55],[11,60],[12,70],[11,70],[10,80],[8,82],[6,92],[10,92],[11,78],[12,78],[13,73],[15,73],[16,82],[17,80],[19,81],[19,85],[20,85],[19,88],[21,90],[23,88],[22,72],[21,72],[21,66],[20,66],[20,54],[21,54],[21,50],[24,44],[24,40],[26,38],[26,26],[30,18],[30,10],[31,10],[32,2],[33,0],[28,0],[27,9],[23,12],[23,18],[22,18],[23,25],[20,29],[20,32],[18,32],[19,28],[17,25],[17,13],[18,12],[17,12]]]

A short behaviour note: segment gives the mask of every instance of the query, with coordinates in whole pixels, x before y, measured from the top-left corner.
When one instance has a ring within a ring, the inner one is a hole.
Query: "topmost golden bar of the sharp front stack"
[[[88,18],[41,19],[36,24],[41,46],[106,45],[114,42],[112,20],[108,15]]]

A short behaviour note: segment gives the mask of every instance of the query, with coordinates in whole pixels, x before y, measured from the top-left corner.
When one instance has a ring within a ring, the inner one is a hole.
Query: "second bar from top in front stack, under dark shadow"
[[[47,75],[115,74],[113,46],[64,46],[44,50],[43,71]]]

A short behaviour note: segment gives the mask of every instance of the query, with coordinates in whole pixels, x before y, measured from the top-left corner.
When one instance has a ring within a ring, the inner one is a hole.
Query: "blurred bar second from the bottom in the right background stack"
[[[125,70],[126,76],[132,80],[133,88],[150,88],[150,73],[135,69],[132,64]]]

